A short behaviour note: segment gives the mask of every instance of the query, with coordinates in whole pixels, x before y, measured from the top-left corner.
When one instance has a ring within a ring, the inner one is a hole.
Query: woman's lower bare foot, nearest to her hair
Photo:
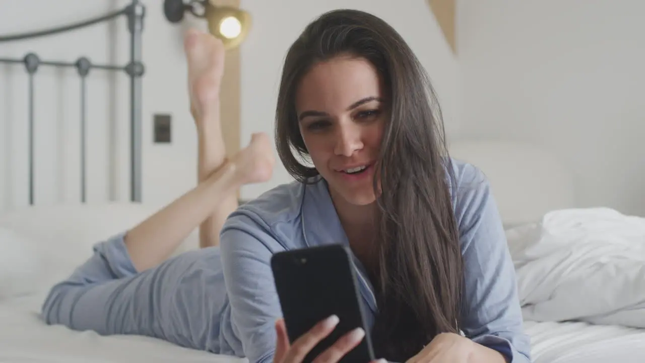
[[[235,154],[231,162],[241,185],[268,181],[275,163],[269,137],[264,133],[253,134],[248,146]]]

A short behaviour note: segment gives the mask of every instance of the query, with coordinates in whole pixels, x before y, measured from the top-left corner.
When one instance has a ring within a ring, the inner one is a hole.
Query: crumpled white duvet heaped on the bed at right
[[[645,327],[645,219],[553,211],[508,231],[525,320]]]

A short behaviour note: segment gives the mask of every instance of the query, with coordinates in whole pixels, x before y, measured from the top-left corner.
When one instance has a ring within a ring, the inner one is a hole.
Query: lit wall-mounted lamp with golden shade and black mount
[[[179,23],[184,12],[208,21],[208,32],[222,39],[226,49],[235,48],[244,41],[251,28],[248,12],[232,6],[215,5],[214,0],[164,0],[164,14],[170,23]]]

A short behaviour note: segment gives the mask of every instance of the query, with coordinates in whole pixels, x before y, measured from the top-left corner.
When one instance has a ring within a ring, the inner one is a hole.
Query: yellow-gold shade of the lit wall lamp
[[[226,49],[239,46],[251,27],[248,12],[231,6],[215,6],[209,1],[204,9],[208,31],[224,43]]]

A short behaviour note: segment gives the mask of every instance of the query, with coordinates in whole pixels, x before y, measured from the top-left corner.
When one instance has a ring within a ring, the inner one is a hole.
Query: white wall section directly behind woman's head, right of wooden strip
[[[310,21],[335,8],[371,12],[400,32],[430,74],[446,129],[457,128],[457,63],[426,0],[242,0],[241,6],[253,16],[253,30],[241,47],[243,144],[254,131],[273,136],[277,88],[286,51]],[[278,165],[270,182],[248,185],[242,195],[257,196],[291,180]]]

